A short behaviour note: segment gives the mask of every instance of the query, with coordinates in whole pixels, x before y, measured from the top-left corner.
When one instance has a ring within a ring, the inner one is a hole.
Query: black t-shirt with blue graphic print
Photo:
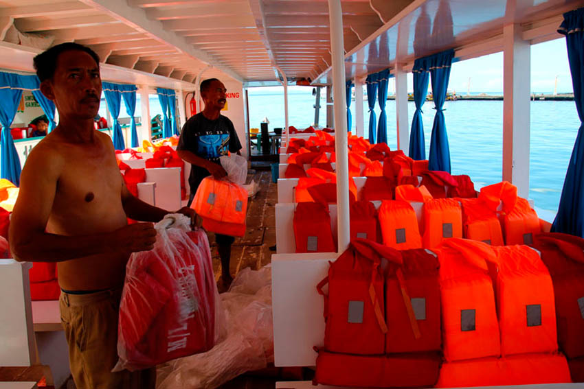
[[[219,115],[209,120],[203,113],[197,113],[183,126],[177,150],[190,151],[196,156],[219,164],[219,158],[227,152],[238,152],[241,143],[229,118]],[[191,193],[195,193],[203,178],[210,176],[204,167],[191,164],[188,179]]]

